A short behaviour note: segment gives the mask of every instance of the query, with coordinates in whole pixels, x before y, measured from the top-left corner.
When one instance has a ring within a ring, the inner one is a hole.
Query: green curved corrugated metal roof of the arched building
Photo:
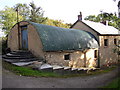
[[[98,48],[95,38],[82,30],[66,29],[55,26],[32,24],[42,41],[44,51],[84,50]]]

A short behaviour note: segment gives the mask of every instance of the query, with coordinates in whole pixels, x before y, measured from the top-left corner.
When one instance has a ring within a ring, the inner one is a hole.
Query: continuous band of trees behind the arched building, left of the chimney
[[[19,12],[19,22],[22,20],[32,21],[40,24],[69,28],[71,24],[64,24],[62,20],[53,20],[48,17],[43,17],[44,11],[41,7],[37,7],[34,2],[29,6],[27,4],[18,3],[13,7],[5,7],[0,11],[0,23],[5,34],[10,32],[10,29],[17,23],[17,12]]]

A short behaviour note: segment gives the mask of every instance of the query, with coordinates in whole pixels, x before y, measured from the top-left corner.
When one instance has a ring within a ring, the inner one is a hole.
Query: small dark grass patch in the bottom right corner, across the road
[[[102,88],[116,88],[117,90],[120,90],[120,77],[114,79],[112,82],[110,82],[108,85],[102,87]]]

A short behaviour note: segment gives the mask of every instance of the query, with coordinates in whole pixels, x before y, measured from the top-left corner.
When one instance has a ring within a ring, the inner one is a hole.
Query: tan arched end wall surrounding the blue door
[[[28,25],[28,50],[35,56],[44,58],[42,43],[36,29],[28,22],[20,22],[20,26]],[[12,51],[18,50],[18,25],[16,24],[8,35],[8,47]],[[20,48],[22,49],[21,28],[20,28]]]

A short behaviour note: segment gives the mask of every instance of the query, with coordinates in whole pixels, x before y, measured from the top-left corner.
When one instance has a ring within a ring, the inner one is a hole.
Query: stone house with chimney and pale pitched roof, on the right
[[[100,66],[117,63],[119,55],[115,53],[120,45],[120,31],[112,26],[108,26],[107,21],[102,23],[82,20],[82,13],[78,15],[78,20],[71,28],[80,29],[92,33],[98,43],[98,62]]]

